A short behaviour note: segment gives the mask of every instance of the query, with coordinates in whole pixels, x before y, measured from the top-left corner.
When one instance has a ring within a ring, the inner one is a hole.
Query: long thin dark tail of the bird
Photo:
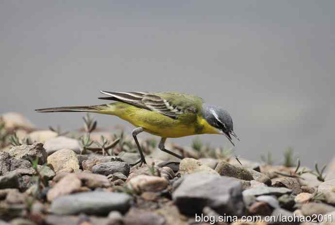
[[[89,106],[69,106],[35,109],[36,112],[92,112],[101,114],[113,114],[114,104],[89,105]]]

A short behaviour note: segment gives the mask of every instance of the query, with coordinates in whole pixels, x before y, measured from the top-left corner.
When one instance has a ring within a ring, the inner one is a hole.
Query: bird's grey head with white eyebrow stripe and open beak
[[[233,145],[234,143],[232,141],[231,135],[233,135],[237,140],[239,140],[233,130],[232,117],[223,108],[219,108],[215,105],[203,105],[202,116],[211,126],[221,131],[222,135],[226,135],[228,140]]]

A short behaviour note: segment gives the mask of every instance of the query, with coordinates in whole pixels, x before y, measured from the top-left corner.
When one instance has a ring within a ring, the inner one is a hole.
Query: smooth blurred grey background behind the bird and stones
[[[335,1],[0,1],[0,113],[76,129],[99,90],[197,94],[226,108],[235,154],[334,155]],[[131,126],[97,115],[100,126]],[[187,145],[194,136],[172,141]],[[213,146],[224,136],[201,135]]]

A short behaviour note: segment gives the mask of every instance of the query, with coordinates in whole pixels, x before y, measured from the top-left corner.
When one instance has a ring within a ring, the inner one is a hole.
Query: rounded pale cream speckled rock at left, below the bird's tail
[[[63,169],[79,170],[77,154],[69,149],[58,150],[48,156],[48,164],[53,166],[56,173]]]

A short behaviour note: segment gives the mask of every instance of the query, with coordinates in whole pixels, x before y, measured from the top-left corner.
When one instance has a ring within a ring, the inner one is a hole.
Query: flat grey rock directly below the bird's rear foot
[[[92,167],[93,173],[102,174],[105,176],[117,172],[120,172],[125,176],[128,176],[129,171],[130,171],[130,165],[125,162],[119,162],[119,161],[101,163]]]

